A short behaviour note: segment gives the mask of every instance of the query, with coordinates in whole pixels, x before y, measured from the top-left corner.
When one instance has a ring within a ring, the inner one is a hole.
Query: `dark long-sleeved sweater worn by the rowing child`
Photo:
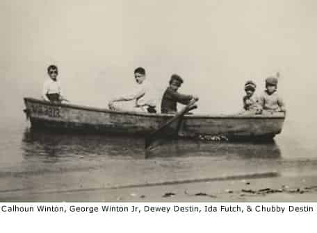
[[[191,95],[184,95],[175,92],[173,89],[168,87],[162,98],[161,102],[161,112],[162,113],[173,113],[177,112],[177,103],[182,103],[187,105],[189,101],[193,98]]]

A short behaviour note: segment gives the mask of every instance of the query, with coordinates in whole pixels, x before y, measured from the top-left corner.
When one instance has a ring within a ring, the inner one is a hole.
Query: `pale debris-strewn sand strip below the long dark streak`
[[[317,175],[277,176],[144,187],[1,191],[0,201],[314,202]]]

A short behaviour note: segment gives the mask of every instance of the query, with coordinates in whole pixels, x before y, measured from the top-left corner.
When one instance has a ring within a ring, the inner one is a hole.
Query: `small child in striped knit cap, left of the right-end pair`
[[[259,105],[259,98],[254,95],[257,85],[251,80],[245,83],[245,96],[243,96],[243,108],[246,111],[255,111],[255,113],[261,113],[261,106]]]

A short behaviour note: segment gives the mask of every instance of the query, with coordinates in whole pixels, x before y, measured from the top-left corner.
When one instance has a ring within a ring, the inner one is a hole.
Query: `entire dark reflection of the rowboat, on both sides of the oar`
[[[104,137],[102,135],[47,133],[26,128],[22,141],[24,156],[60,157],[241,157],[276,159],[281,157],[275,141],[266,142],[204,142],[190,139],[165,141],[153,150],[144,151],[142,138]]]

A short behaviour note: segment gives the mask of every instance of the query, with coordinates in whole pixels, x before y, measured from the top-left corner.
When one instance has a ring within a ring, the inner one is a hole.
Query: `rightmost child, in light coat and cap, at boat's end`
[[[274,112],[286,112],[284,101],[281,96],[277,94],[277,78],[266,78],[266,90],[261,94],[260,105],[263,110]]]

